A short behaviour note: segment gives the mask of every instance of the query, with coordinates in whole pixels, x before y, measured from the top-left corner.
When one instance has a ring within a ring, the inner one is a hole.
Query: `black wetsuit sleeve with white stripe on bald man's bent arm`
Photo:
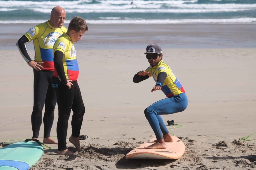
[[[29,43],[29,39],[23,35],[19,40],[18,42],[16,43],[16,46],[18,47],[20,53],[21,53],[21,56],[24,58],[24,60],[29,63],[31,60],[31,58],[29,57],[28,55],[28,51],[27,51],[27,47],[26,45]]]

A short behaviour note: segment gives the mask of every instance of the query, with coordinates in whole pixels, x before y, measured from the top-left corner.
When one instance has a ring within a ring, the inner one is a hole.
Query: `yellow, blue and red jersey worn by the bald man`
[[[57,38],[61,36],[67,29],[54,28],[50,25],[49,20],[45,23],[38,24],[28,30],[25,36],[29,41],[34,42],[35,61],[44,62],[42,70],[54,70],[52,48]]]

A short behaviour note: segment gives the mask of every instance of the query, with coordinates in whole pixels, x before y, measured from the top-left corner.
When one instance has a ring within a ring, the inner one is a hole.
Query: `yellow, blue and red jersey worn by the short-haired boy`
[[[53,46],[53,54],[55,51],[61,51],[64,54],[62,59],[66,79],[72,81],[77,80],[79,74],[78,63],[76,60],[76,49],[71,38],[63,33]],[[54,68],[53,76],[58,77],[57,70]]]

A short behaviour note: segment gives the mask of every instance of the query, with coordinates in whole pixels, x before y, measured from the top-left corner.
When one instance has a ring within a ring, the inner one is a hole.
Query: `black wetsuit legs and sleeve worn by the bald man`
[[[23,55],[24,59],[29,63],[31,58],[26,50],[26,43],[28,38],[23,35],[17,42],[17,47]],[[42,124],[42,111],[45,106],[44,112],[44,138],[50,137],[50,131],[53,125],[54,109],[57,102],[56,93],[52,88],[53,71],[50,70],[34,70],[34,104],[31,114],[31,124],[33,136],[32,138],[39,137],[39,130]]]

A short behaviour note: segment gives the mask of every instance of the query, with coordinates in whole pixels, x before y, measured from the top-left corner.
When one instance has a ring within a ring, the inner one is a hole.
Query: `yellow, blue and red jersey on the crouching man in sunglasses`
[[[179,80],[176,78],[170,67],[166,63],[164,63],[163,60],[161,60],[154,67],[149,66],[146,69],[146,72],[149,72],[148,76],[153,77],[155,82],[157,82],[157,76],[159,73],[165,72],[167,74],[167,77],[164,80],[164,84],[162,85],[161,88],[161,90],[167,97],[178,95],[185,92]]]

